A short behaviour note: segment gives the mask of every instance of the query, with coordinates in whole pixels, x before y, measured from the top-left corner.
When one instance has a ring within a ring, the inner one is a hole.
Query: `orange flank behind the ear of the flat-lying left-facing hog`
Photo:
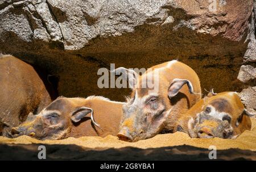
[[[78,102],[77,102],[78,103]],[[77,125],[72,125],[70,136],[116,136],[122,119],[122,103],[110,102],[104,99],[89,99],[81,102],[82,106],[93,109],[94,120],[100,124],[101,129],[92,124],[91,120],[84,119]],[[80,101],[76,106],[80,105]],[[81,106],[80,105],[80,106]],[[90,115],[89,115],[90,116]]]

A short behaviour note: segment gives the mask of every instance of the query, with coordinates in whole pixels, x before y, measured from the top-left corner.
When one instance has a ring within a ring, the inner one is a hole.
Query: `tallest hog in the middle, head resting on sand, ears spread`
[[[126,68],[114,72],[126,74],[133,89],[123,105],[122,124],[117,135],[123,141],[138,141],[163,131],[172,132],[180,115],[201,99],[196,72],[176,60],[153,66],[139,76]],[[145,81],[150,85],[143,85]]]

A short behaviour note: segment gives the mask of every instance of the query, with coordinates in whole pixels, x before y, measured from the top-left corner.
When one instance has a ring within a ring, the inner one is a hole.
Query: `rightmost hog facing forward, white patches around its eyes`
[[[177,131],[193,138],[236,138],[251,129],[250,114],[235,92],[209,94],[201,99],[180,119]]]

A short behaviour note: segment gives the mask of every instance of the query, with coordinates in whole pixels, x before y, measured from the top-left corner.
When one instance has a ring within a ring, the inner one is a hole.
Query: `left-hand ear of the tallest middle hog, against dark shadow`
[[[130,89],[133,89],[137,83],[137,75],[138,74],[134,70],[121,67],[121,68],[114,69],[111,72],[115,73],[117,75],[122,74],[122,77],[124,77],[124,79],[126,79],[128,81]]]

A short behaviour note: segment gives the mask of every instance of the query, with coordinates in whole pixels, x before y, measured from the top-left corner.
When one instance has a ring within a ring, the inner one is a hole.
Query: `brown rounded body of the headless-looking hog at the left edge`
[[[39,112],[51,98],[42,79],[31,65],[10,55],[0,54],[0,132],[26,120],[29,112]]]

